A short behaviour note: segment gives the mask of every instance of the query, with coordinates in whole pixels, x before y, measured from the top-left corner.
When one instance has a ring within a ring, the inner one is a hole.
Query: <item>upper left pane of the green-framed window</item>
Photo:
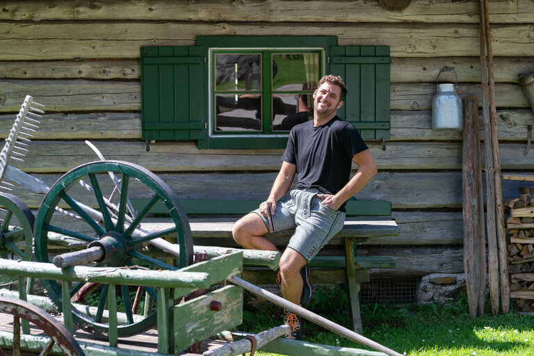
[[[215,90],[260,89],[260,54],[215,55]]]

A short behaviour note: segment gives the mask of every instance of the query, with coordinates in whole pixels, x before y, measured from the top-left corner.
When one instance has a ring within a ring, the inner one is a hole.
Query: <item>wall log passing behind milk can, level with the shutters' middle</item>
[[[0,41],[1,42],[1,41]],[[1,44],[0,44],[1,45]],[[533,46],[534,47],[534,46]],[[534,54],[533,54],[534,56]],[[391,110],[420,111],[432,109],[435,83],[392,83]],[[495,86],[496,106],[529,108],[526,97],[517,84],[499,83]],[[138,81],[86,80],[10,80],[0,86],[0,113],[17,113],[24,97],[31,92],[46,113],[72,111],[140,111],[140,84]],[[478,95],[480,86],[460,83],[460,95]]]

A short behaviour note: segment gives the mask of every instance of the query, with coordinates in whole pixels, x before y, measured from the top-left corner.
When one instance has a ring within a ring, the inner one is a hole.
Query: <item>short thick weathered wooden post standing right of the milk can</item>
[[[480,286],[480,264],[478,253],[480,248],[478,218],[478,172],[476,161],[478,154],[476,147],[480,145],[478,138],[478,102],[474,95],[464,97],[464,144],[462,149],[462,183],[464,217],[464,271],[469,301],[469,316],[476,318],[478,310],[478,287]]]

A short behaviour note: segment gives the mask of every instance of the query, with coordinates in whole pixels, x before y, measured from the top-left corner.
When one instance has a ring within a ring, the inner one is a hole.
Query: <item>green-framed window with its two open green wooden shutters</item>
[[[332,36],[199,36],[197,46],[141,48],[144,140],[199,148],[283,148],[312,116],[324,74],[341,75],[338,111],[366,140],[389,138],[389,47]]]

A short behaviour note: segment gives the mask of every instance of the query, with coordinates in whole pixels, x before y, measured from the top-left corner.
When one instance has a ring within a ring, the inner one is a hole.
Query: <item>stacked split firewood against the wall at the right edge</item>
[[[534,187],[519,193],[505,202],[510,296],[515,310],[534,312]]]

